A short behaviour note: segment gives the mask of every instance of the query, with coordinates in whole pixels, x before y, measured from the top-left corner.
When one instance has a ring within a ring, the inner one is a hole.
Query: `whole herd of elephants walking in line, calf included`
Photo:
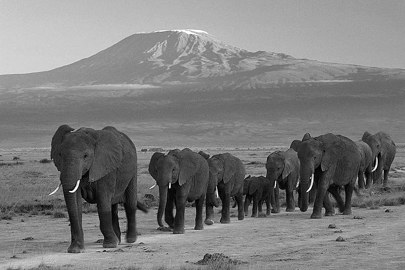
[[[51,143],[51,159],[60,171],[60,186],[70,220],[69,253],[85,251],[82,227],[82,198],[97,204],[103,247],[115,248],[121,241],[118,204],[127,215],[128,243],[137,238],[136,210],[147,212],[137,200],[137,155],[131,139],[113,127],[102,130],[73,128],[62,125]],[[341,135],[328,133],[294,140],[287,151],[274,151],[266,161],[266,177],[246,177],[245,165],[230,153],[210,157],[189,148],[170,150],[166,155],[155,152],[148,171],[159,187],[157,223],[159,229],[184,234],[186,202],[195,202],[195,227],[214,224],[214,206],[222,202],[221,223],[229,223],[231,198],[237,205],[238,220],[243,220],[253,200],[252,216],[279,213],[279,189],[286,190],[286,211],[295,210],[293,191],[298,192],[298,206],[308,209],[313,201],[311,218],[321,218],[322,206],[326,216],[335,209],[327,191],[336,199],[342,214],[351,214],[351,197],[358,177],[359,188],[386,185],[388,171],[395,157],[396,146],[384,132],[365,132],[353,142]],[[382,172],[384,178],[382,179]],[[366,183],[363,175],[366,175]],[[345,202],[340,188],[345,188]],[[151,188],[152,188],[151,187]],[[243,197],[246,195],[245,203]],[[266,214],[262,204],[266,203]],[[206,218],[203,222],[205,203]],[[271,207],[270,207],[271,204]],[[176,214],[174,215],[174,207]],[[165,214],[166,227],[161,221]]]

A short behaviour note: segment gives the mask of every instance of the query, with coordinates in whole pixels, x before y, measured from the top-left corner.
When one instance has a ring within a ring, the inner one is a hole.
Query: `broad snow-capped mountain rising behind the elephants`
[[[0,75],[0,97],[0,144],[47,143],[63,123],[115,125],[142,144],[289,144],[310,130],[402,136],[405,70],[249,52],[205,31],[163,30],[53,70]]]

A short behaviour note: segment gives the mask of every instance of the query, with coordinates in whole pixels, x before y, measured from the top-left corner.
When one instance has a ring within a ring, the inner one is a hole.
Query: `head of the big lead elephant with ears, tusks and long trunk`
[[[73,128],[62,125],[52,137],[51,159],[60,171],[72,239],[79,246],[83,245],[80,180],[96,181],[122,163],[123,146],[110,129],[114,128],[80,128],[72,132]]]

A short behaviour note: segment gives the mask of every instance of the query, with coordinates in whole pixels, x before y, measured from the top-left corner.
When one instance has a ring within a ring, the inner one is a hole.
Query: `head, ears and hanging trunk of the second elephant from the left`
[[[197,173],[200,160],[190,158],[194,153],[191,150],[174,149],[167,155],[155,152],[149,163],[149,173],[159,186],[159,207],[157,210],[157,223],[163,227],[161,218],[165,212],[168,189],[173,184],[182,186]],[[201,158],[202,159],[202,158]]]

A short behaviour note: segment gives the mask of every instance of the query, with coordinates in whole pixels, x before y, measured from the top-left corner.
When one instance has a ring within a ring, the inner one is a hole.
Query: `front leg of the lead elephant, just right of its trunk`
[[[116,248],[119,239],[112,225],[111,198],[103,198],[103,200],[97,202],[97,212],[100,220],[100,230],[104,236],[103,247]]]

